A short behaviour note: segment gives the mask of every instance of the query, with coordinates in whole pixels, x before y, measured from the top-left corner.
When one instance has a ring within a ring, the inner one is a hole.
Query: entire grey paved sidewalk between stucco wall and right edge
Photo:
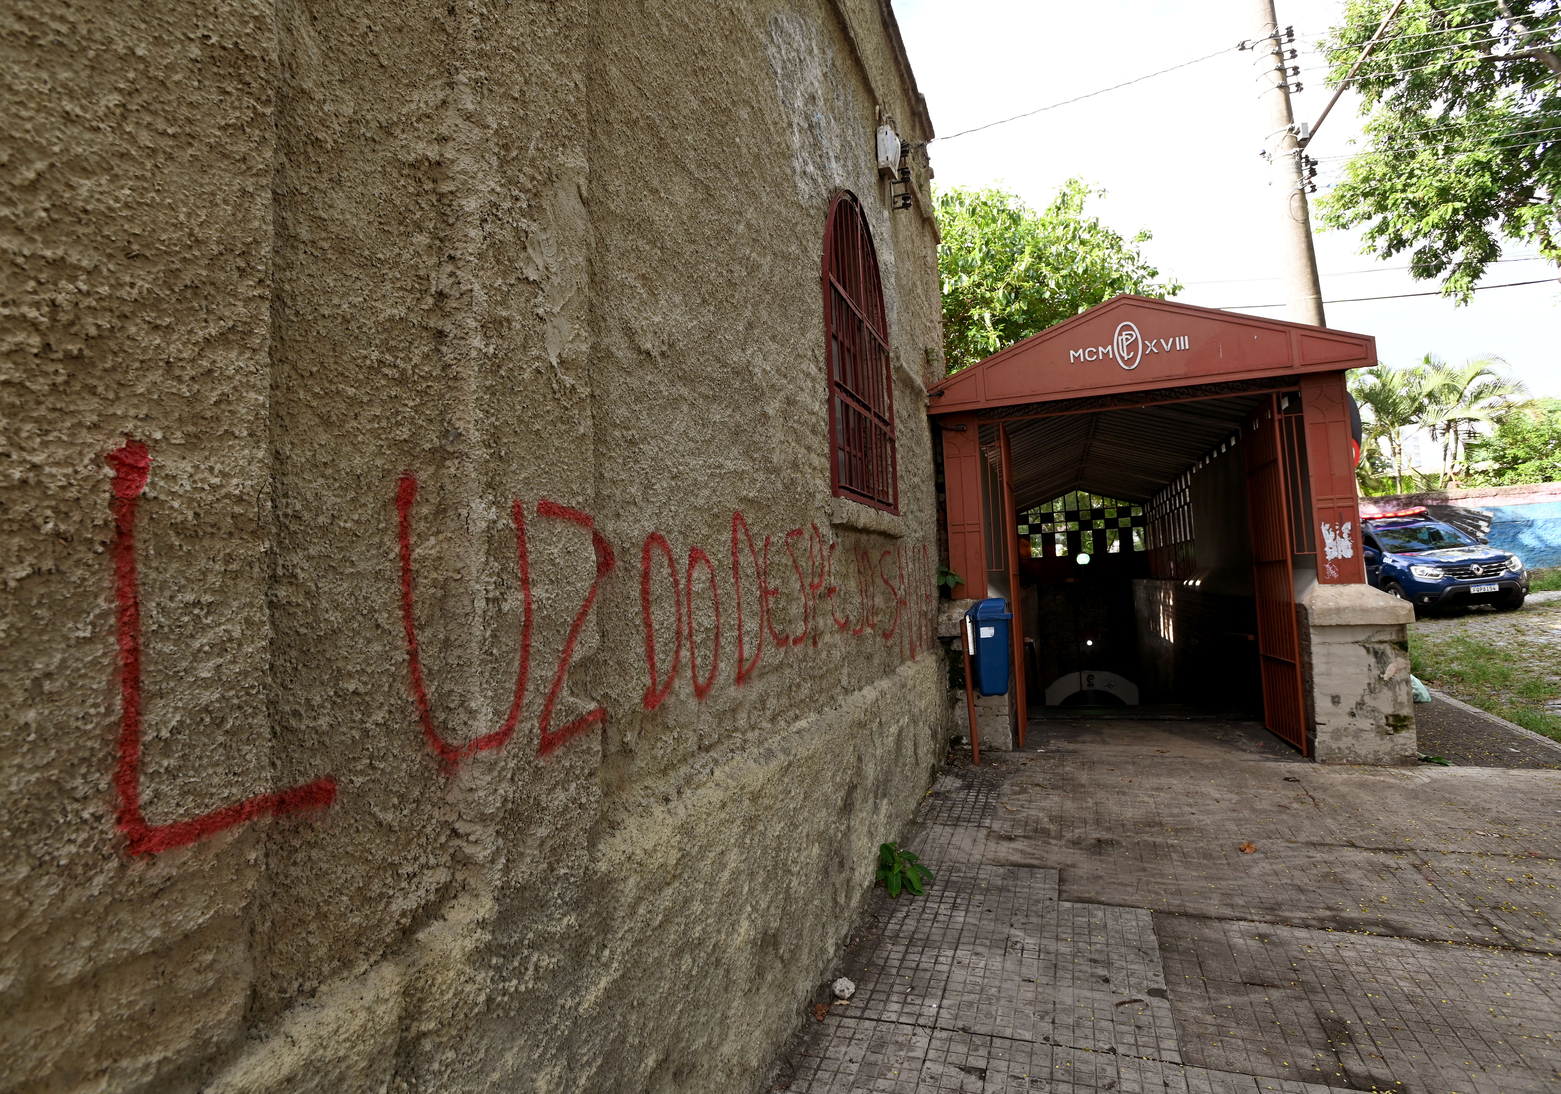
[[[1239,723],[1035,723],[987,758],[940,777],[909,836],[937,882],[874,896],[855,999],[771,1088],[1561,1089],[1561,773],[1325,768]]]

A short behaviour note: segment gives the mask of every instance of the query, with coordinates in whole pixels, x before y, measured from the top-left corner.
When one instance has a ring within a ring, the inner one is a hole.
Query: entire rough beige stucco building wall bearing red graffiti
[[[946,732],[882,11],[0,27],[0,1088],[751,1088]],[[837,187],[898,517],[829,496]]]

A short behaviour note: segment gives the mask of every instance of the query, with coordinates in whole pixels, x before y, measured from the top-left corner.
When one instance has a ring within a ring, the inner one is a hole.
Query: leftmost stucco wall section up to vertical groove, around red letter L
[[[130,863],[109,468],[139,504],[151,822],[270,788],[268,5],[8,5],[0,1058],[11,1089],[189,1082],[242,1039],[264,836]],[[108,1061],[112,1078],[105,1078]]]

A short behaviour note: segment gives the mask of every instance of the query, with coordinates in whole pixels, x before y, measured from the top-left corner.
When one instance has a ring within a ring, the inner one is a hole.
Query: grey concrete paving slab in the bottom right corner
[[[1541,1089],[1561,961],[1511,950],[1157,916],[1183,1058],[1360,1089]]]

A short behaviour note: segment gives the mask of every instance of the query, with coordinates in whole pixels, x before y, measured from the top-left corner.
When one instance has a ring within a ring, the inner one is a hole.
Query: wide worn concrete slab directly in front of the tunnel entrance
[[[1015,776],[1044,787],[1007,796],[1022,812],[994,819],[985,861],[1058,868],[1083,902],[1561,950],[1561,776],[1211,765],[1152,743],[1171,749],[1058,748]]]

